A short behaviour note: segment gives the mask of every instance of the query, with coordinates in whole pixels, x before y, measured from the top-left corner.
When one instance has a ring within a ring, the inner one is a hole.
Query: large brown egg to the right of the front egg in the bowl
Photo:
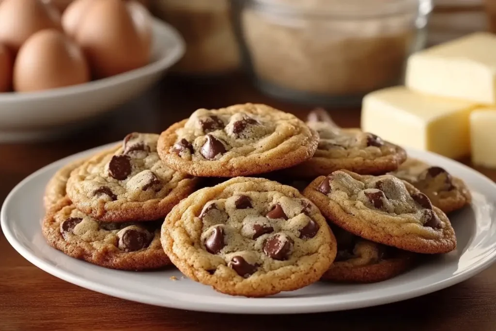
[[[108,77],[148,64],[151,38],[147,37],[145,25],[136,23],[144,19],[143,13],[133,8],[121,0],[98,0],[78,23],[75,40],[95,77]]]

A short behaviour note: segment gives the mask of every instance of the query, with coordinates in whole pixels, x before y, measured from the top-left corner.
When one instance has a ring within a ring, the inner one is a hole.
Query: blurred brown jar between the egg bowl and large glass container
[[[185,38],[186,54],[172,71],[196,76],[239,68],[229,0],[153,0],[150,6]]]

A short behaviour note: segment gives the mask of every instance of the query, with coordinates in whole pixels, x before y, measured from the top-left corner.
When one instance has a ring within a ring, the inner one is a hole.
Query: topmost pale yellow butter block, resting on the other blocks
[[[496,103],[496,35],[476,32],[413,54],[406,86],[424,93]]]

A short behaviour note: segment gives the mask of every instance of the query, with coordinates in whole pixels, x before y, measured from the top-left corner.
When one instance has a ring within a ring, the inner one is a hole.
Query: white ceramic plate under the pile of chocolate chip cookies
[[[101,148],[98,148],[101,149]],[[463,281],[495,261],[496,185],[478,172],[433,153],[408,150],[409,155],[444,167],[463,178],[473,194],[471,207],[450,215],[458,248],[430,257],[398,277],[375,284],[315,283],[267,298],[231,297],[182,278],[177,269],[131,272],[106,269],[79,261],[46,244],[40,229],[46,183],[70,160],[96,152],[85,151],[35,172],[5,199],[0,213],[10,244],[28,261],[76,285],[142,303],[222,313],[295,314],[344,310],[390,303],[437,291]],[[171,280],[176,276],[178,280]]]

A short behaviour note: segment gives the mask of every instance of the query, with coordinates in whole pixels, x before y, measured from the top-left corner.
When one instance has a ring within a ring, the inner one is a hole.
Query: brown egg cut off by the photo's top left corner
[[[3,0],[0,3],[0,43],[14,53],[34,33],[62,29],[59,11],[41,0]]]

